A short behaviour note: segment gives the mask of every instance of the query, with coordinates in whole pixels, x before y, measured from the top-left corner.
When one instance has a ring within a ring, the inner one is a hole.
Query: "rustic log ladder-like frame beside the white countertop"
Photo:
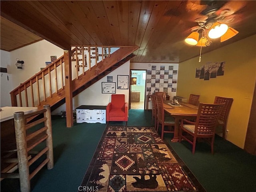
[[[7,165],[1,170],[1,178],[19,178],[20,179],[20,191],[30,192],[30,180],[47,164],[48,169],[54,167],[53,161],[53,146],[52,146],[52,121],[51,121],[51,110],[50,105],[44,105],[42,110],[24,114],[24,112],[14,113],[14,127],[15,127],[15,139],[10,139],[5,142],[8,146],[16,144],[16,149],[3,151],[4,158],[1,156],[1,163],[4,161]],[[42,114],[42,118],[28,122],[33,116]],[[44,142],[37,148],[40,143]],[[11,148],[12,149],[12,148]],[[39,151],[40,150],[40,151]],[[2,155],[1,154],[1,155]],[[46,154],[46,156],[43,156]],[[14,155],[14,158],[12,157]],[[44,159],[40,157],[44,157]],[[12,157],[12,158],[11,158]],[[30,169],[30,166],[34,162],[40,164]],[[2,164],[1,164],[2,168]],[[14,172],[18,169],[18,172]]]

